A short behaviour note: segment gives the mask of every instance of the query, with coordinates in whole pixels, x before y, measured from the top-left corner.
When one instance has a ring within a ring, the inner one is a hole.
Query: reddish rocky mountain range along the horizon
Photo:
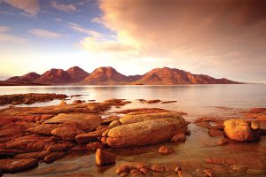
[[[3,81],[2,81],[3,82]],[[215,79],[204,74],[193,74],[176,68],[155,68],[143,75],[126,76],[113,67],[99,67],[87,73],[78,66],[51,69],[43,74],[27,73],[4,81],[8,85],[181,85],[181,84],[239,84],[225,78]]]

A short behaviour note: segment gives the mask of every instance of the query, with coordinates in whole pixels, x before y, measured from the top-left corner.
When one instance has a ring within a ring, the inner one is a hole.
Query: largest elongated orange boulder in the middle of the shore
[[[176,119],[164,117],[113,127],[104,139],[113,148],[142,146],[168,141],[186,128],[181,116]]]

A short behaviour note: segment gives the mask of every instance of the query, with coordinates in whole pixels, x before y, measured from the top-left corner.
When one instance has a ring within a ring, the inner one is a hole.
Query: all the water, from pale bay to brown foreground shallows
[[[266,85],[193,85],[193,86],[102,86],[102,87],[2,87],[0,94],[14,93],[62,93],[66,95],[84,94],[86,96],[74,99],[91,100],[98,102],[109,98],[124,98],[132,101],[121,108],[113,108],[109,112],[140,107],[158,107],[177,112],[186,112],[187,120],[203,116],[221,118],[238,118],[241,111],[253,107],[266,107]],[[176,100],[171,104],[141,104],[137,99],[160,99],[162,101]],[[69,102],[72,102],[70,100]],[[32,104],[41,106],[59,104],[59,101]],[[187,166],[195,173],[195,169],[213,168],[207,165],[206,158],[236,158],[240,163],[252,166],[251,169],[261,170],[266,175],[266,136],[259,142],[234,143],[226,146],[217,146],[220,138],[209,137],[207,130],[189,125],[192,135],[186,142],[166,142],[175,150],[174,154],[161,156],[157,150],[161,144],[151,146],[151,150],[144,154],[133,156],[117,156],[116,165],[99,167],[95,164],[94,153],[66,156],[50,165],[40,164],[37,168],[6,176],[63,176],[65,174],[86,173],[88,176],[116,176],[115,169],[123,162],[149,163],[177,163]],[[184,165],[186,163],[186,165]],[[221,165],[230,173],[228,165]],[[223,176],[222,174],[220,176]],[[228,176],[228,175],[227,175]],[[240,175],[241,176],[241,175]],[[251,176],[256,176],[252,174]]]

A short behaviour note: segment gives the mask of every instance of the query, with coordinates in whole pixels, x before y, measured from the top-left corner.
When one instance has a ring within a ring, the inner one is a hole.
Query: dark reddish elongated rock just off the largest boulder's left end
[[[97,141],[98,138],[102,136],[102,134],[107,130],[107,128],[102,128],[94,132],[89,132],[86,134],[80,134],[75,136],[75,140],[78,143],[89,143]]]

